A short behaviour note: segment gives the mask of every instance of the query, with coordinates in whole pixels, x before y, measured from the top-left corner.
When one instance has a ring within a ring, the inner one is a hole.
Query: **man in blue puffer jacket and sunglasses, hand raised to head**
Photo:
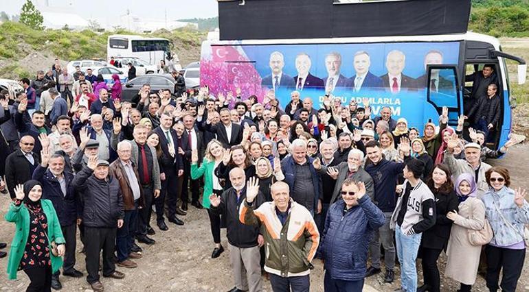
[[[369,243],[384,223],[384,213],[365,195],[363,182],[345,180],[341,199],[328,210],[319,244],[325,291],[362,291]]]

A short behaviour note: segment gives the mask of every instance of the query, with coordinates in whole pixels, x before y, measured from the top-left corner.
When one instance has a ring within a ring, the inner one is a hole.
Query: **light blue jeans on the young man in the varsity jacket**
[[[406,235],[400,226],[395,227],[398,262],[401,263],[401,283],[405,291],[417,291],[417,269],[415,260],[422,234]]]

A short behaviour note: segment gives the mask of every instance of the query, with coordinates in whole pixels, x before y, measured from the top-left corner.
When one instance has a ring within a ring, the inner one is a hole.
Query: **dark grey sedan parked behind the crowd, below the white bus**
[[[122,85],[122,100],[131,101],[144,84],[150,84],[151,92],[168,88],[171,94],[175,93],[175,79],[170,74],[146,74],[128,80]]]

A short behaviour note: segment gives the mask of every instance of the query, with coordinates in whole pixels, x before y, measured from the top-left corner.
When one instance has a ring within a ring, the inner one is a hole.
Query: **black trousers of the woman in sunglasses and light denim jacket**
[[[487,259],[487,273],[485,280],[489,291],[497,291],[502,287],[504,292],[515,292],[520,278],[521,268],[524,267],[526,250],[509,250],[507,248],[485,246]],[[502,284],[498,286],[499,271],[503,268]]]

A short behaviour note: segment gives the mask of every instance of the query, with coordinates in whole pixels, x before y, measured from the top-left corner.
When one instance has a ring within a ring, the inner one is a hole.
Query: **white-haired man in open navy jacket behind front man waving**
[[[291,156],[281,162],[281,170],[292,199],[314,215],[322,211],[322,177],[314,169],[314,158],[307,155],[306,148],[305,141],[295,139],[291,144]]]

